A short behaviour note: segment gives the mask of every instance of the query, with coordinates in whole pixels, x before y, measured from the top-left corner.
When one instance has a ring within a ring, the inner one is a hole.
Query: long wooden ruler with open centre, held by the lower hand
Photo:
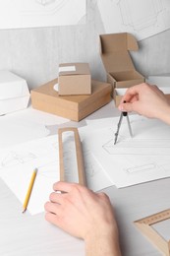
[[[65,132],[73,133],[73,138],[74,138],[74,142],[75,142],[76,152],[74,154],[76,154],[77,167],[78,168],[74,169],[72,171],[78,171],[78,178],[79,178],[78,183],[81,184],[81,185],[86,185],[86,182],[85,182],[85,164],[84,164],[82,144],[81,144],[78,129],[75,128],[75,127],[66,127],[66,128],[59,128],[58,129],[60,180],[61,181],[67,181],[66,180],[66,173],[65,173],[64,145],[63,145],[64,144],[64,142],[63,142],[63,133],[65,133]],[[74,151],[74,149],[73,149],[73,151]]]

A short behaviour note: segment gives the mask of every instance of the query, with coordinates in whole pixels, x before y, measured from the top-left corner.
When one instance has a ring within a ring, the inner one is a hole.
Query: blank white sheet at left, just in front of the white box
[[[0,148],[45,137],[50,134],[48,126],[68,122],[69,119],[33,109],[0,116]]]

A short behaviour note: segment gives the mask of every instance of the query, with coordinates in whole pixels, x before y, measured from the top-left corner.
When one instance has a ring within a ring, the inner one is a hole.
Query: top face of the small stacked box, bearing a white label
[[[88,63],[64,63],[59,65],[59,76],[90,75]]]

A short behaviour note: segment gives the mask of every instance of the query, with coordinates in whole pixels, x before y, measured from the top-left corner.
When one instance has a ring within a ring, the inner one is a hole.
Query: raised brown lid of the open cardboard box
[[[134,70],[129,51],[139,49],[136,38],[128,33],[108,33],[100,35],[100,54],[107,72]]]

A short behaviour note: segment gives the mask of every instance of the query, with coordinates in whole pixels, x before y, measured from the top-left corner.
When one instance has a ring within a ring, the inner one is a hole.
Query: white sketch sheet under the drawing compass
[[[118,119],[113,118],[110,127],[84,135],[88,149],[100,161],[113,183],[117,187],[126,187],[170,176],[169,126],[159,120],[132,115],[134,137],[130,137],[124,118],[114,145]]]

